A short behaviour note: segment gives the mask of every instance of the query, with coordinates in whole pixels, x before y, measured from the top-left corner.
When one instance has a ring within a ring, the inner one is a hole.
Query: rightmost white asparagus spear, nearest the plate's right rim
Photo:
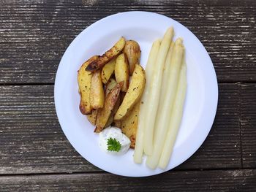
[[[170,118],[170,125],[165,139],[165,145],[159,160],[159,168],[165,169],[170,161],[170,155],[173,152],[173,146],[176,141],[178,130],[181,126],[181,119],[183,116],[184,101],[187,91],[187,66],[181,66],[181,74],[178,82],[178,89],[176,93],[175,104],[173,105],[172,115]]]

